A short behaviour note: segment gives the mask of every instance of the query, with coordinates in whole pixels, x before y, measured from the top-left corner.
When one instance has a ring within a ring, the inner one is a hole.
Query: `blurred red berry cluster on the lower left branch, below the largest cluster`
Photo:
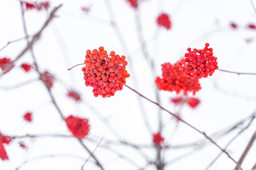
[[[79,118],[79,117],[74,117],[70,115],[65,119],[66,124],[68,129],[72,132],[72,134],[79,138],[82,139],[86,135],[88,135],[88,132],[90,130],[90,124],[88,122],[88,119],[85,118]]]

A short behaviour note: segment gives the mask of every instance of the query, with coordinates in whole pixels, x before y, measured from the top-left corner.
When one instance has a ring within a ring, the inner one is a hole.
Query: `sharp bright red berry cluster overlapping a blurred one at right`
[[[184,72],[186,77],[200,79],[212,75],[214,70],[218,69],[217,57],[213,56],[213,49],[208,46],[209,44],[206,43],[204,49],[193,49],[193,51],[188,48],[189,53],[185,53],[185,59],[178,62],[180,71]]]

